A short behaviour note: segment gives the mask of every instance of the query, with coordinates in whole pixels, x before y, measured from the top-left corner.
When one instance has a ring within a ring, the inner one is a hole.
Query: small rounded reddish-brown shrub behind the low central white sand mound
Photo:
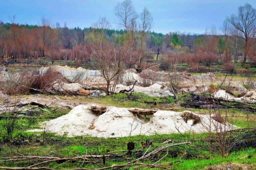
[[[144,87],[151,86],[159,81],[159,75],[153,70],[143,70],[140,77],[143,78],[142,85]]]

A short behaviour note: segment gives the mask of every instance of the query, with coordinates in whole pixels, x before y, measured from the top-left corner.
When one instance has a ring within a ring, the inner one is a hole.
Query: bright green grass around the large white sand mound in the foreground
[[[60,96],[61,97],[61,96]],[[149,97],[142,93],[133,93],[132,97],[137,99],[136,101],[132,101],[127,98],[125,94],[114,94],[107,97],[82,97],[81,99],[85,101],[101,103],[103,105],[107,104],[108,106],[117,106],[117,107],[139,107],[139,108],[156,108],[162,105],[173,107],[174,111],[182,112],[184,110],[190,110],[192,112],[199,113],[209,113],[209,110],[204,109],[193,109],[193,108],[182,108],[175,103],[185,102],[191,98],[190,94],[180,94],[178,95],[179,100],[175,101],[173,97],[167,98],[159,98],[159,97]],[[68,100],[68,99],[67,99]],[[147,104],[146,102],[170,102],[168,104]],[[234,103],[230,103],[233,105]],[[187,146],[179,146],[175,148],[170,148],[169,151],[174,151],[179,148],[182,150],[181,152],[177,152],[177,156],[172,157],[171,155],[167,155],[165,159],[161,160],[161,162],[176,162],[181,160],[181,163],[173,166],[173,169],[203,169],[205,167],[209,167],[212,165],[229,163],[229,162],[240,162],[240,163],[248,163],[254,164],[256,163],[256,152],[255,148],[248,147],[239,150],[232,150],[229,157],[222,158],[220,156],[219,150],[216,152],[209,152],[208,142],[206,139],[209,138],[208,133],[172,133],[172,134],[155,134],[155,135],[138,135],[138,136],[128,136],[128,137],[120,137],[120,138],[98,138],[91,136],[76,136],[76,137],[67,137],[66,135],[56,135],[54,133],[43,133],[43,132],[27,132],[28,129],[41,128],[39,126],[40,122],[49,121],[51,119],[60,117],[62,115],[67,114],[70,109],[63,108],[38,108],[38,112],[40,118],[37,118],[34,123],[30,123],[29,120],[25,118],[20,118],[17,120],[17,124],[15,127],[15,131],[13,132],[10,138],[4,137],[6,135],[6,129],[4,127],[4,119],[0,120],[0,157],[6,156],[6,154],[18,155],[18,153],[25,155],[51,155],[57,157],[68,157],[68,156],[76,156],[76,155],[84,155],[85,153],[90,154],[107,154],[109,151],[116,150],[126,150],[127,142],[132,141],[135,143],[135,149],[140,149],[142,147],[141,142],[145,142],[146,140],[153,141],[152,148],[149,151],[153,150],[157,146],[160,145],[161,142],[166,139],[172,139],[175,143],[179,142],[187,142],[192,141],[192,145]],[[220,112],[222,114],[235,114],[235,115],[247,115],[245,111],[241,111],[238,109],[219,109],[219,110],[210,110],[211,113]],[[252,116],[252,114],[250,115]],[[255,125],[252,122],[248,122],[247,118],[244,117],[232,117],[228,119],[228,122],[234,124],[240,128],[248,128],[254,127]],[[40,134],[40,135],[38,135]],[[44,139],[44,142],[42,140]],[[24,142],[21,146],[16,146],[15,142]],[[28,141],[27,141],[28,140]],[[39,144],[39,145],[38,145]],[[54,152],[52,152],[54,151]],[[18,152],[18,153],[17,153]],[[186,158],[184,157],[184,152],[190,152],[194,154],[194,157]],[[241,157],[251,155],[251,158],[243,158]],[[206,159],[207,156],[211,156],[211,159]],[[181,158],[182,157],[182,158]],[[181,159],[180,159],[181,158]],[[106,161],[105,166],[113,165],[113,164],[124,164],[126,161]],[[151,163],[151,162],[144,162]],[[28,165],[24,163],[22,166]],[[50,164],[46,164],[48,167],[54,168],[60,163],[53,162]],[[102,165],[102,163],[100,163]],[[0,162],[0,166],[21,166],[11,162],[10,164],[6,162]],[[104,166],[104,165],[102,165]],[[67,168],[76,168],[74,163],[67,162],[65,164],[61,164],[59,169],[67,169]],[[97,168],[94,165],[84,165],[86,168]],[[144,168],[146,169],[146,168]]]

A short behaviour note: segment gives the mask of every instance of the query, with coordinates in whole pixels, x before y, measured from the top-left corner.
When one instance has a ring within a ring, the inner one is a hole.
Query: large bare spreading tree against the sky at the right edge
[[[232,15],[229,19],[230,24],[238,30],[240,34],[236,36],[244,40],[244,60],[246,62],[247,53],[250,46],[255,43],[256,35],[256,10],[248,3],[238,7],[238,16]]]

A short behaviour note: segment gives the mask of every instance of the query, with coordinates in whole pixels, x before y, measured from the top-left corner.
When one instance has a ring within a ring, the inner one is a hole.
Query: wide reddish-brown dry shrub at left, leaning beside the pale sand
[[[59,91],[62,81],[65,81],[61,73],[49,67],[45,71],[23,71],[16,80],[9,80],[9,94],[28,94]],[[54,84],[59,86],[53,87]],[[37,90],[33,90],[37,89]]]

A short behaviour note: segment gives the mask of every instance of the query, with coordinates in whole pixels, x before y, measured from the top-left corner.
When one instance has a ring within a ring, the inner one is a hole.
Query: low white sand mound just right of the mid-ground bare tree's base
[[[132,85],[124,86],[122,84],[118,84],[118,85],[116,85],[115,93],[119,93],[121,90],[124,90],[124,89],[130,90],[129,87],[132,88]],[[134,89],[132,91],[144,93],[150,97],[174,96],[171,93],[171,89],[169,89],[168,87],[166,87],[164,85],[160,85],[160,84],[156,84],[156,83],[149,87],[134,86]]]

